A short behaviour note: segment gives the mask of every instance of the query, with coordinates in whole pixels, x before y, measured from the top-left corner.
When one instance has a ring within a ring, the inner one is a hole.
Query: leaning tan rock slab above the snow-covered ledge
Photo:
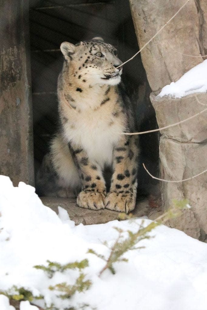
[[[130,0],[139,47],[143,47],[185,2],[186,0]],[[199,0],[197,2],[200,6]],[[206,7],[206,0],[201,2],[202,6]],[[201,41],[202,36],[206,40],[204,17],[204,14],[200,14],[199,18],[194,1],[188,2],[158,36],[143,49],[141,58],[152,91],[176,82],[184,73],[203,61],[200,57],[189,58],[180,53],[194,56],[200,56],[201,53],[204,55]],[[201,22],[203,22],[202,34]]]

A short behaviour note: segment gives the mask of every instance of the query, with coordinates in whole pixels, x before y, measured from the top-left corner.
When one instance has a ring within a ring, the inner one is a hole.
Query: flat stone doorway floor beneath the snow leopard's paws
[[[84,225],[107,223],[118,219],[119,212],[108,209],[89,210],[80,208],[76,205],[75,198],[59,198],[59,197],[41,197],[45,206],[50,207],[58,213],[58,206],[67,210],[71,220],[76,225],[82,223]],[[135,216],[141,217],[150,211],[147,200],[142,200],[137,203],[135,210],[132,212]]]

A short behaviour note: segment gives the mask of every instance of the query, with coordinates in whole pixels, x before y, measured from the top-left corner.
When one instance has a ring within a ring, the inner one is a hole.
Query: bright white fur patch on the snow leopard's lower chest
[[[71,111],[67,110],[70,114]],[[81,113],[72,111],[69,121],[64,124],[64,135],[68,141],[85,149],[91,161],[101,167],[111,164],[112,151],[121,139],[124,130],[123,121],[112,114],[111,107],[104,106],[96,110]]]

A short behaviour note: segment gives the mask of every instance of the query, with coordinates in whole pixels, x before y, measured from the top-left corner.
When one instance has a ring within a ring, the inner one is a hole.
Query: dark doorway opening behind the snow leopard
[[[56,85],[63,62],[60,44],[63,41],[75,44],[97,36],[113,44],[122,61],[138,51],[128,0],[30,1],[35,172],[48,151],[58,122]],[[122,80],[134,103],[137,130],[156,128],[155,113],[149,100],[151,90],[140,55],[124,66]],[[141,135],[140,145],[140,163],[145,162],[156,175],[159,165],[158,135]],[[155,183],[142,165],[139,175],[138,193],[151,193]]]

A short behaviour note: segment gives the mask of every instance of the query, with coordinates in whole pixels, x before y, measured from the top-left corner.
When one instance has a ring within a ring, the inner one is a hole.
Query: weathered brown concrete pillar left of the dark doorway
[[[27,0],[0,6],[0,174],[34,185]]]

